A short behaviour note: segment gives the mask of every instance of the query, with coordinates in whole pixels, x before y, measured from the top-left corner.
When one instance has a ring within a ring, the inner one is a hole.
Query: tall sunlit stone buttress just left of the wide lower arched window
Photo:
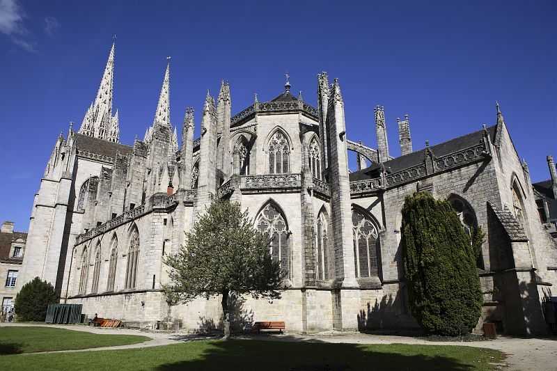
[[[343,287],[357,287],[352,248],[352,205],[343,96],[335,79],[329,95],[327,109],[329,129],[329,184],[331,188],[331,226],[335,251],[335,278],[342,280]]]

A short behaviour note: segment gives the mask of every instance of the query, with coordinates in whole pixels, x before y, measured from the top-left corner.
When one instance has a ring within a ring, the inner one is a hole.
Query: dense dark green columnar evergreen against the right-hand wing
[[[476,268],[481,230],[473,241],[446,200],[427,193],[405,198],[402,208],[404,256],[411,313],[428,333],[470,333],[481,314]]]

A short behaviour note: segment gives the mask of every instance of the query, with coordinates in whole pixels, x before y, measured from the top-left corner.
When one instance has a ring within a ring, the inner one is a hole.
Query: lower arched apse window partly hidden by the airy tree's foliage
[[[256,218],[256,226],[269,235],[271,257],[281,262],[281,269],[290,277],[290,248],[288,226],[284,216],[273,203],[267,203]]]

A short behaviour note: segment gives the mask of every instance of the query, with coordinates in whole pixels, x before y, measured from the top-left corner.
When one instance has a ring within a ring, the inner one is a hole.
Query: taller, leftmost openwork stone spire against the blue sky
[[[89,106],[79,133],[93,136],[98,139],[105,139],[118,143],[120,129],[118,128],[118,118],[112,117],[112,96],[113,96],[113,72],[114,72],[114,43],[110,49],[109,59],[102,74],[99,90],[95,102]],[[116,125],[116,127],[114,127]],[[113,135],[116,133],[116,136]]]

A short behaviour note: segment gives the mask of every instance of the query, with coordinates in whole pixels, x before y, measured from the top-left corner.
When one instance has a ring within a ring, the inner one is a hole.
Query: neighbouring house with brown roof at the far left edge
[[[22,268],[27,234],[15,232],[13,221],[4,221],[0,230],[0,311],[8,313],[19,291],[17,276]]]

